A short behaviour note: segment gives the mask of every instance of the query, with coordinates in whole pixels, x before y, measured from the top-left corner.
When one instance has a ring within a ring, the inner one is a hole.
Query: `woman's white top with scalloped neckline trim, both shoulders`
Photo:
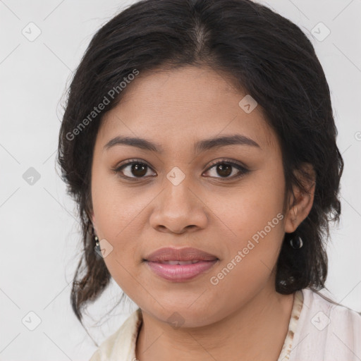
[[[90,361],[134,361],[142,312],[138,308],[94,352]],[[360,361],[361,313],[309,288],[295,300],[278,361]]]

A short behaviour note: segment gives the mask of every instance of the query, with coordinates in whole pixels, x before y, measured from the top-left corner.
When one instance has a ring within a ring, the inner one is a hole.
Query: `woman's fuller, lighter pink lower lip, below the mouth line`
[[[155,274],[163,279],[183,282],[194,279],[204,271],[208,271],[217,261],[218,259],[214,259],[214,261],[200,261],[192,264],[166,264],[149,261],[146,263]]]

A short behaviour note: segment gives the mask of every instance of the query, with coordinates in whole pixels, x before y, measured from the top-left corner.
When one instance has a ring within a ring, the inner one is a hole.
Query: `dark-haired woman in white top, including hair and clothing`
[[[111,277],[139,309],[97,360],[360,360],[324,298],[343,159],[299,27],[249,0],[145,0],[96,35],[59,164],[84,254],[73,310]]]

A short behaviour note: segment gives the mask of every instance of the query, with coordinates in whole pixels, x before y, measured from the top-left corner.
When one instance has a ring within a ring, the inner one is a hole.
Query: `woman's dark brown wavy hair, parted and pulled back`
[[[297,230],[285,235],[275,287],[283,294],[324,288],[325,236],[329,238],[329,221],[338,221],[341,214],[343,159],[336,146],[329,86],[310,40],[297,25],[250,0],[143,0],[94,35],[73,76],[61,123],[57,161],[82,226],[83,253],[71,291],[80,322],[83,307],[96,300],[111,279],[94,252],[91,166],[102,116],[126,89],[114,99],[108,97],[109,104],[91,121],[84,120],[135,70],[185,65],[228,73],[262,107],[281,145],[286,194],[293,185],[303,189],[295,171],[312,164],[314,203]],[[299,250],[289,244],[295,236],[304,243]]]

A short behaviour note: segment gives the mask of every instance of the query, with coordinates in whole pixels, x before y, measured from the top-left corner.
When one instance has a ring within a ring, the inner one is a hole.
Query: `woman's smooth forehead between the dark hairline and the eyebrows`
[[[181,146],[238,133],[262,149],[277,147],[262,107],[258,104],[247,113],[239,103],[249,95],[233,84],[226,74],[207,67],[140,73],[127,85],[118,105],[104,115],[98,138],[104,144],[116,135],[147,135],[165,145]]]

